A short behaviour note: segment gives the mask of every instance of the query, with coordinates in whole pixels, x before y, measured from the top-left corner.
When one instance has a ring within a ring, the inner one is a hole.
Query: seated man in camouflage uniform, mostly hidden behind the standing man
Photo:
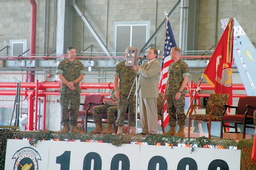
[[[112,92],[110,94],[110,98],[112,98],[115,101],[114,104],[117,103],[114,89],[112,90]],[[104,102],[104,100],[103,100],[103,102]],[[108,128],[105,131],[102,131],[102,129],[100,128],[100,123],[102,120],[100,119],[99,114],[102,114],[105,112],[107,112],[107,114],[108,114]],[[93,119],[94,119],[96,127],[94,130],[91,130],[89,133],[112,134],[112,124],[114,123],[114,115],[116,113],[117,113],[117,106],[112,106],[112,105],[108,105],[108,104],[104,103],[104,105],[93,107]]]

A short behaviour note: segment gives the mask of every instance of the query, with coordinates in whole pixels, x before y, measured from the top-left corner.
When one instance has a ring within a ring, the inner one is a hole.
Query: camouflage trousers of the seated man
[[[93,119],[95,123],[100,123],[102,120],[99,117],[99,114],[108,114],[108,123],[113,124],[114,123],[114,115],[117,113],[117,106],[111,106],[111,105],[100,105],[100,106],[94,106],[93,107]]]

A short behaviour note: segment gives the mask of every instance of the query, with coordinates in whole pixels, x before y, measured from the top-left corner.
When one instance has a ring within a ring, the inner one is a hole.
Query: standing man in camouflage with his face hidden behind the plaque
[[[125,50],[125,56],[127,57],[127,47]],[[125,66],[125,60],[119,62],[114,71],[114,89],[115,89],[115,96],[118,99],[117,107],[117,119],[116,125],[118,126],[117,134],[123,133],[123,125],[125,119],[125,113],[127,111],[127,107],[129,109],[129,124],[131,126],[131,134],[136,133],[135,129],[135,114],[136,114],[136,100],[134,97],[136,87],[133,85],[135,77],[137,75],[136,71],[133,67]],[[118,88],[118,81],[119,81],[119,88]],[[133,87],[132,87],[133,85]],[[132,87],[132,90],[131,90]],[[118,90],[119,89],[119,90]],[[131,90],[131,94],[128,99],[129,92]],[[128,99],[128,101],[127,101]]]

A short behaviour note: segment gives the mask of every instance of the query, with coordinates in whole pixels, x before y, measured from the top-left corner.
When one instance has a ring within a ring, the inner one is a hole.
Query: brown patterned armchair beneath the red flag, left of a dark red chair
[[[199,106],[197,104],[191,105],[191,110],[188,116],[188,137],[190,137],[191,120],[202,120],[207,122],[209,137],[211,136],[211,124],[212,121],[220,122],[221,117],[224,115],[226,108],[224,107],[228,103],[228,93],[217,94],[212,93],[209,95],[206,106]],[[205,108],[206,114],[192,114],[195,107]]]

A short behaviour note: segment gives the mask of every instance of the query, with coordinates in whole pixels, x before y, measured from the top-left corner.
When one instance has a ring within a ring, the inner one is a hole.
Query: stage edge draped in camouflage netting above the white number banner
[[[6,144],[8,139],[20,139],[20,140],[22,139],[23,141],[27,141],[26,145],[28,145],[28,147],[35,147],[35,149],[37,147],[36,145],[38,145],[39,147],[39,144],[41,143],[41,141],[54,141],[54,142],[60,142],[60,143],[61,141],[62,142],[64,141],[65,143],[71,142],[73,143],[72,145],[74,145],[74,147],[76,147],[76,145],[79,145],[79,148],[75,149],[79,151],[79,154],[80,154],[80,150],[81,150],[80,148],[82,145],[81,143],[85,143],[85,146],[87,145],[86,143],[94,143],[99,145],[101,143],[109,143],[110,144],[109,146],[110,147],[113,146],[114,148],[119,148],[119,147],[121,148],[127,144],[129,146],[133,145],[135,148],[136,146],[146,145],[146,148],[148,147],[148,149],[154,146],[159,149],[160,148],[166,148],[168,150],[170,149],[169,151],[174,151],[174,150],[171,150],[173,147],[186,148],[186,150],[188,149],[186,151],[188,155],[183,155],[184,158],[185,157],[190,158],[191,156],[193,157],[193,153],[196,153],[201,149],[210,149],[209,151],[213,151],[211,149],[214,149],[214,151],[215,149],[216,150],[241,150],[241,157],[240,157],[241,167],[237,169],[240,169],[240,168],[256,169],[256,164],[254,164],[254,162],[250,160],[250,155],[252,153],[252,143],[253,143],[252,139],[234,140],[234,139],[218,139],[218,138],[207,138],[207,137],[181,138],[181,137],[174,137],[174,136],[169,137],[164,135],[127,135],[127,134],[126,135],[94,135],[94,134],[84,134],[84,133],[60,133],[60,132],[53,132],[53,131],[18,131],[18,130],[8,130],[8,129],[0,129],[0,138],[1,138],[0,141],[2,142],[2,148],[3,148],[1,152],[1,158],[5,158],[5,154],[6,154],[5,149],[6,149]],[[23,147],[23,146],[21,145],[19,146],[19,144],[17,144],[17,147]],[[146,151],[148,151],[148,149],[146,149]],[[166,152],[170,154],[169,151],[167,152],[166,149],[163,149],[161,153],[165,154]],[[63,150],[62,153],[65,153],[65,151]],[[181,152],[180,149],[178,149],[177,151]],[[54,155],[54,156],[56,156],[57,158],[62,153],[59,153],[59,155]],[[117,154],[117,152],[115,153]],[[150,149],[150,153],[151,153],[151,149]],[[102,153],[99,153],[99,155],[101,154]],[[204,153],[204,154],[207,154],[207,153]],[[154,157],[154,155],[151,155],[151,156]],[[225,155],[225,157],[227,157],[227,155]],[[56,162],[56,158],[55,158],[55,162]],[[106,157],[104,157],[104,159],[105,158]],[[164,155],[163,155],[163,158],[165,158]],[[231,155],[231,158],[232,158],[232,155]],[[182,158],[180,160],[182,160]],[[180,160],[178,160],[178,162]],[[167,163],[172,164],[171,162],[168,162],[168,161]],[[197,162],[197,164],[201,164],[201,163]]]

